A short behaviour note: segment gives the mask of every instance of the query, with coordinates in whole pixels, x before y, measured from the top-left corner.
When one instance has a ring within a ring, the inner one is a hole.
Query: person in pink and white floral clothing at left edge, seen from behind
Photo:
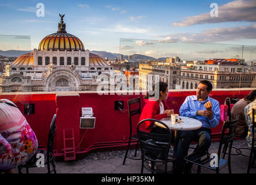
[[[8,99],[0,99],[0,171],[13,173],[36,153],[38,141],[27,120]]]

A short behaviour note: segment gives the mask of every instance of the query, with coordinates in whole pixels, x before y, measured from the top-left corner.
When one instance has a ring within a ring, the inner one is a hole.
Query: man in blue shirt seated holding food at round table
[[[202,80],[198,85],[196,95],[186,97],[181,105],[180,116],[199,120],[202,127],[192,131],[181,131],[174,172],[190,171],[192,165],[185,165],[184,157],[188,155],[189,145],[192,141],[198,141],[194,152],[204,152],[211,145],[211,128],[219,124],[221,116],[219,102],[209,97],[212,89],[213,85],[209,81]]]

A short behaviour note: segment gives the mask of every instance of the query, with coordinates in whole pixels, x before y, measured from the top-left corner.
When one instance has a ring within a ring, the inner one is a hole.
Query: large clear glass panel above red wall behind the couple
[[[256,87],[256,46],[122,38],[119,49],[119,65],[139,63],[141,90],[150,86],[152,75],[170,89],[195,89],[200,80],[215,89]]]

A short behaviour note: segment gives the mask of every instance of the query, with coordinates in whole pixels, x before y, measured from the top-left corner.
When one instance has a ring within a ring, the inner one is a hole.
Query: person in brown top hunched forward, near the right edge
[[[245,138],[248,133],[248,127],[246,123],[246,118],[244,116],[244,108],[251,102],[254,101],[256,97],[256,90],[251,91],[251,93],[243,99],[240,99],[235,103],[231,109],[231,120],[236,120],[236,116],[239,116],[239,120],[236,124],[235,136]]]

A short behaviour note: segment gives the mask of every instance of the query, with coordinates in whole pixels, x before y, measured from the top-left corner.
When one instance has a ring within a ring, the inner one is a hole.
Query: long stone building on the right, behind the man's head
[[[181,66],[180,88],[197,88],[201,80],[209,80],[213,88],[256,87],[255,76],[254,66],[238,63],[187,64]]]

